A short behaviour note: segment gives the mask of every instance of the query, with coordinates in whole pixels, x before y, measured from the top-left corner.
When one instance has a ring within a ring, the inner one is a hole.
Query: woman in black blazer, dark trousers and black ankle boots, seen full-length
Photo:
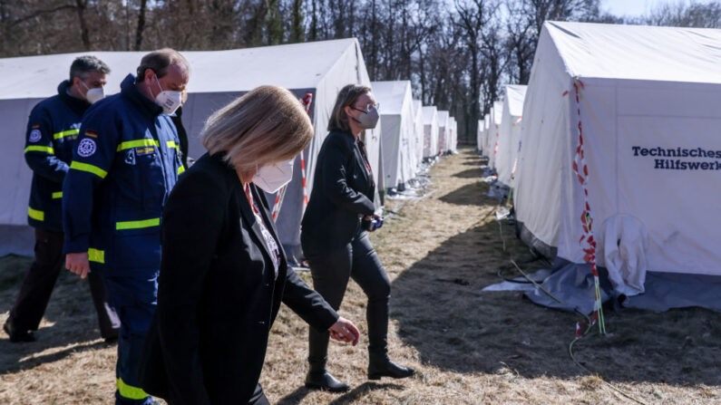
[[[375,215],[373,171],[360,139],[375,128],[377,104],[371,89],[348,84],[341,89],[328,122],[330,133],[317,157],[315,183],[301,225],[303,247],[313,285],[335,310],[353,278],[368,296],[368,379],[405,378],[414,369],[388,358],[388,301],[391,284],[368,239],[381,218]],[[311,329],[306,387],[347,391],[350,387],[326,371],[328,336]]]

